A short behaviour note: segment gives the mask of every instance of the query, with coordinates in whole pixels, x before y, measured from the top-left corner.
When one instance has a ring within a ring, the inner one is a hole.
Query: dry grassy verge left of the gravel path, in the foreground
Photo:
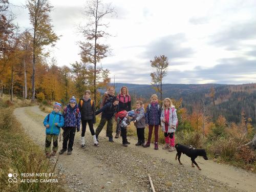
[[[32,104],[17,98],[9,104],[4,99],[0,100],[0,191],[65,191],[61,188],[63,180],[57,178],[55,164],[45,158],[44,152],[27,136],[13,115],[14,108]],[[10,173],[17,174],[16,183],[8,181]],[[55,173],[55,176],[22,178],[22,173]],[[26,179],[26,182],[21,182],[21,179]],[[31,179],[35,180],[31,182]],[[40,182],[40,179],[46,182]],[[58,183],[47,182],[48,179],[57,179]]]

